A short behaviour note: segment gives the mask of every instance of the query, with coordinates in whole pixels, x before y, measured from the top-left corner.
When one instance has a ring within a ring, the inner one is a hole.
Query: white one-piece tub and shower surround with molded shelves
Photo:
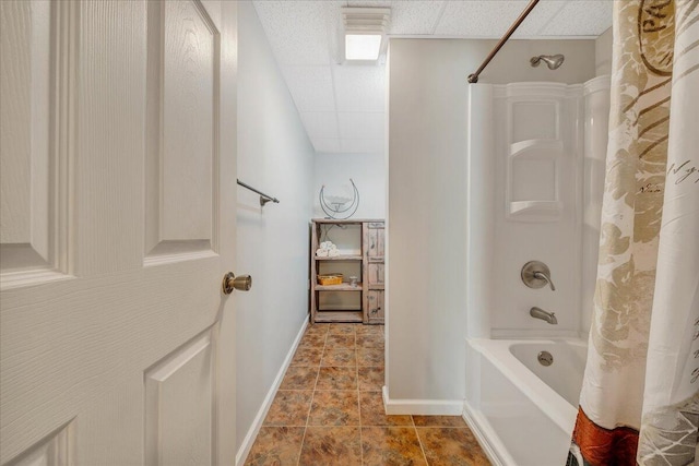
[[[590,326],[608,76],[469,92],[464,416],[495,464],[565,464],[579,386],[564,380],[581,380],[584,368],[584,350],[571,348],[584,348]],[[548,265],[555,290],[522,283],[534,260]],[[535,307],[556,319],[533,319]],[[534,356],[512,349],[522,338]],[[544,367],[535,356],[547,347],[554,362]]]

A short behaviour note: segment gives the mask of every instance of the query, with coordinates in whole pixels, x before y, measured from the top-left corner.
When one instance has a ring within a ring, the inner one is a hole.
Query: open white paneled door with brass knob
[[[0,464],[233,465],[236,2],[0,12]]]

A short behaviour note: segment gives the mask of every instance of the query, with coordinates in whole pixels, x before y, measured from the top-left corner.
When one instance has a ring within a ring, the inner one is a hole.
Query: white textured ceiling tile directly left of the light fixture
[[[343,1],[256,1],[279,64],[328,64],[341,34]]]

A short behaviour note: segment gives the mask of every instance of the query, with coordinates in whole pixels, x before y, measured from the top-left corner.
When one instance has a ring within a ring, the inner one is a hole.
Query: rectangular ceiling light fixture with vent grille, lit
[[[390,16],[389,8],[343,8],[345,60],[376,63],[388,45],[386,34]]]

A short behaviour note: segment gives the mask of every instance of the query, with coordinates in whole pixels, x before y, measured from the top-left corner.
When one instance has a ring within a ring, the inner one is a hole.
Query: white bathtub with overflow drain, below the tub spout
[[[572,338],[466,339],[464,417],[494,464],[566,464],[585,358]]]

